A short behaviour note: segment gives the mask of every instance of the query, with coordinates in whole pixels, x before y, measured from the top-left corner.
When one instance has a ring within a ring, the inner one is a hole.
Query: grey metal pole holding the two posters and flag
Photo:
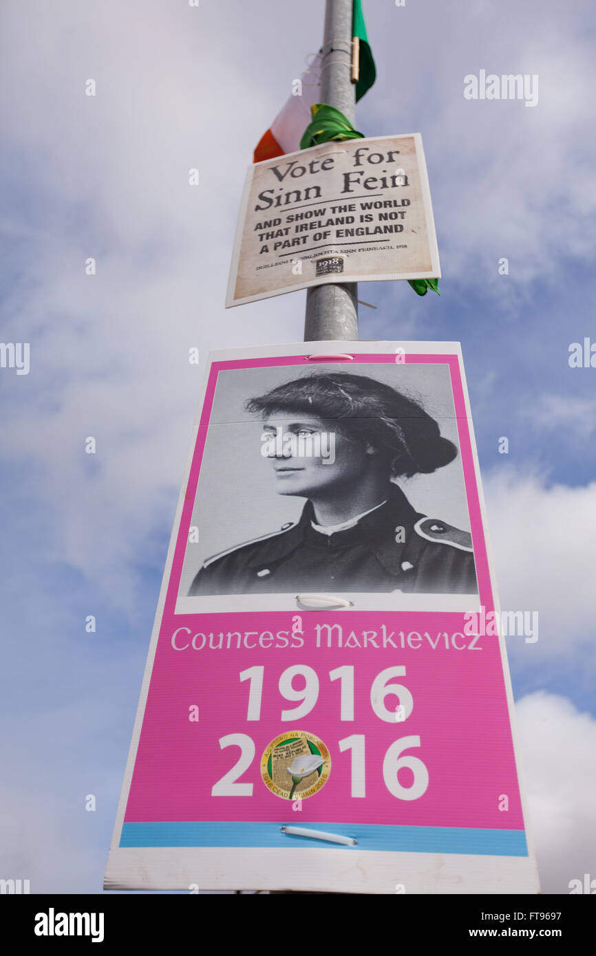
[[[320,101],[356,117],[356,85],[351,81],[352,0],[326,0]],[[358,338],[358,283],[328,283],[306,290],[304,341]]]

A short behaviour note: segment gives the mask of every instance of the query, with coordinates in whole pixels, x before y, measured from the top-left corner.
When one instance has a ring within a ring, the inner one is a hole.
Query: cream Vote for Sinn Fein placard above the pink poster
[[[440,277],[419,133],[249,166],[226,306],[325,282]]]

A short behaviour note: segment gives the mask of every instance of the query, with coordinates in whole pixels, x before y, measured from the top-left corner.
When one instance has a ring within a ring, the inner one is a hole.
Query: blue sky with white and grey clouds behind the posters
[[[323,7],[2,4],[2,338],[31,367],[0,369],[0,877],[32,892],[101,887],[203,379],[188,348],[302,338],[303,292],[223,301],[246,166]],[[596,368],[568,362],[596,342],[596,15],[364,11],[378,79],[356,125],[422,133],[443,278],[440,298],[361,286],[360,335],[462,343],[501,604],[540,613],[508,648],[542,891],[567,893],[596,877]],[[538,76],[538,103],[464,98],[481,69]]]

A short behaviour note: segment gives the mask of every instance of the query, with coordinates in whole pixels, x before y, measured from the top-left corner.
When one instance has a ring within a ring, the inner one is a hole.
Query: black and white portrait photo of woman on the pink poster
[[[441,364],[219,373],[180,595],[475,595]]]

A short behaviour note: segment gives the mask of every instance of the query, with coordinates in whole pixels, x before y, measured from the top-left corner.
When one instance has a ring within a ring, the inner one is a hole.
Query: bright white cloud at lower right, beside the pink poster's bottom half
[[[541,892],[569,893],[569,880],[596,879],[596,720],[544,691],[516,712]]]

